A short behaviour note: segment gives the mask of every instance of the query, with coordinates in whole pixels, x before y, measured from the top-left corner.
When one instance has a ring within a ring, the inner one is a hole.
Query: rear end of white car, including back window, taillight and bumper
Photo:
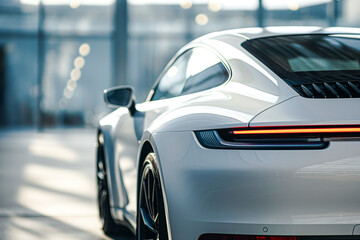
[[[246,126],[154,136],[174,146],[156,149],[173,240],[360,238],[359,39],[249,40],[299,96]]]

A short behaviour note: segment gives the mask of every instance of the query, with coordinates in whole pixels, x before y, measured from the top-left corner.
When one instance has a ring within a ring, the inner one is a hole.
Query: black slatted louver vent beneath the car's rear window
[[[307,98],[360,98],[360,81],[304,83],[292,87]]]

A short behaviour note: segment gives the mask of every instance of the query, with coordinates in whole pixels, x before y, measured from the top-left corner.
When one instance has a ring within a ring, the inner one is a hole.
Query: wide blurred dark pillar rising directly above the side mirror
[[[128,84],[127,75],[127,41],[128,41],[128,7],[126,0],[116,0],[114,14],[114,85]]]

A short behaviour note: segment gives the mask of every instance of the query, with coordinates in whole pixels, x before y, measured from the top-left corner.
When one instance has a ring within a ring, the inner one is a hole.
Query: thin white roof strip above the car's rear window
[[[206,38],[216,38],[222,35],[237,35],[244,40],[287,36],[287,35],[303,35],[303,34],[360,34],[360,28],[350,27],[328,27],[321,28],[315,26],[298,27],[298,26],[281,26],[281,27],[254,27],[241,28],[208,34]]]

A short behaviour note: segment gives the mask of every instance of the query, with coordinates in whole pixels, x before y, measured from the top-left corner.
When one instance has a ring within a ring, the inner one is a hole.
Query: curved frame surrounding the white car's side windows
[[[162,79],[162,77],[164,76],[164,74],[166,74],[166,72],[174,65],[174,63],[181,57],[183,56],[185,53],[187,53],[188,51],[197,49],[197,48],[204,48],[206,50],[209,50],[210,52],[212,52],[213,54],[216,55],[216,57],[219,59],[219,61],[223,64],[223,66],[225,67],[226,71],[228,72],[228,78],[224,81],[224,83],[220,84],[219,86],[222,86],[224,84],[226,84],[227,82],[229,82],[229,80],[232,77],[232,70],[230,67],[230,64],[226,61],[226,59],[214,48],[212,48],[211,46],[204,44],[204,43],[197,43],[197,44],[192,44],[186,48],[181,49],[174,57],[173,59],[166,65],[166,67],[164,68],[164,70],[161,72],[160,76],[157,78],[157,80],[155,81],[155,84],[153,85],[153,87],[151,88],[148,96],[146,97],[145,102],[152,102],[152,101],[159,101],[159,100],[152,100],[154,97],[154,93],[157,89],[157,87],[159,86],[160,80]],[[219,87],[217,86],[217,87]],[[207,89],[209,90],[209,89]],[[203,90],[206,91],[206,90]],[[202,92],[202,91],[199,91]],[[196,92],[198,93],[198,92]],[[190,94],[194,94],[194,93],[190,93]],[[181,96],[186,96],[189,94],[185,94],[185,95],[180,95],[180,96],[176,96],[176,97],[181,97]],[[176,98],[176,97],[171,97],[171,98]],[[166,99],[170,99],[170,98],[166,98]],[[165,99],[161,99],[161,100],[165,100]]]

